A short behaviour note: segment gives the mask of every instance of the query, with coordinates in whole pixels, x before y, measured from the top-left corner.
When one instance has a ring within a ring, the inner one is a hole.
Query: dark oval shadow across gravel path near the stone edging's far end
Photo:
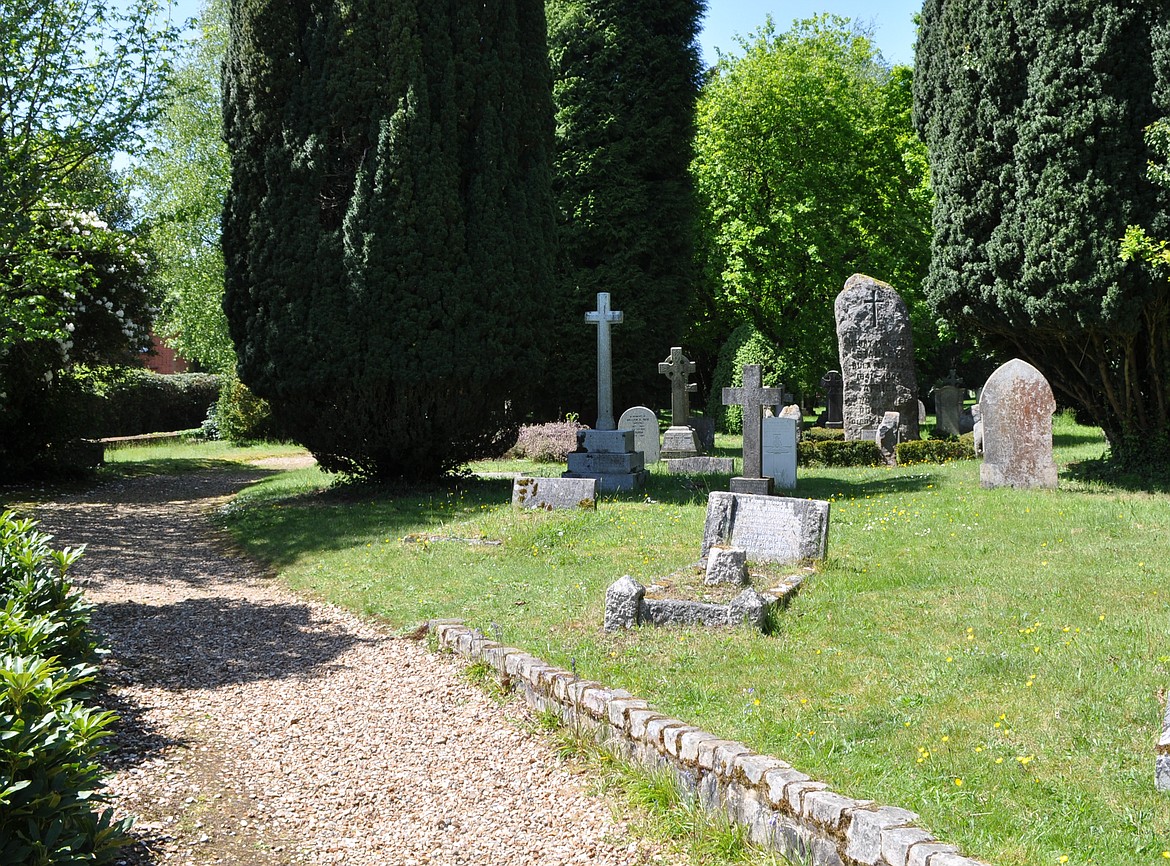
[[[170,690],[324,675],[362,642],[315,621],[307,605],[223,597],[105,603],[94,625],[116,648],[123,679]]]

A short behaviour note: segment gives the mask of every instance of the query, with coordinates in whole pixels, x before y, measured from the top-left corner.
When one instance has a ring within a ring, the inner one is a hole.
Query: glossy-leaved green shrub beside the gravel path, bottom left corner
[[[125,841],[102,803],[112,713],[87,706],[96,668],[90,605],[30,521],[0,515],[0,861],[101,864]]]

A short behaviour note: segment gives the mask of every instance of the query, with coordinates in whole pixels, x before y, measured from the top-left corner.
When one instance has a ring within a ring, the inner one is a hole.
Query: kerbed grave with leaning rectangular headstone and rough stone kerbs
[[[780,577],[769,573],[770,566],[796,565],[824,559],[828,548],[830,504],[823,500],[798,500],[783,496],[727,493],[716,490],[707,502],[701,564],[703,570],[713,549],[744,550],[753,578],[768,578],[773,585],[764,591],[744,587],[723,604],[691,598],[661,597],[662,587],[642,586],[628,575],[619,578],[605,593],[605,630],[621,631],[639,625],[748,624],[765,630],[777,605],[783,606],[804,583],[801,572]],[[763,564],[759,568],[759,564]],[[688,570],[672,578],[686,577]],[[669,580],[667,582],[669,583]],[[738,589],[738,587],[736,587]]]

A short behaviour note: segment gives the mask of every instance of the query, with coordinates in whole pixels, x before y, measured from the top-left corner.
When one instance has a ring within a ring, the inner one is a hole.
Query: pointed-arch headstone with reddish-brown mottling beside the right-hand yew
[[[1052,413],[1057,400],[1044,374],[1013,358],[983,386],[983,487],[1057,486]]]

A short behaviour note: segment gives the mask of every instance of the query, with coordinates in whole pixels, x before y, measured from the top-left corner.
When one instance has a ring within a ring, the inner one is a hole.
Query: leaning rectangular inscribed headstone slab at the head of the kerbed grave
[[[707,500],[701,556],[718,545],[743,548],[752,562],[824,559],[828,511],[823,500],[715,490]]]

